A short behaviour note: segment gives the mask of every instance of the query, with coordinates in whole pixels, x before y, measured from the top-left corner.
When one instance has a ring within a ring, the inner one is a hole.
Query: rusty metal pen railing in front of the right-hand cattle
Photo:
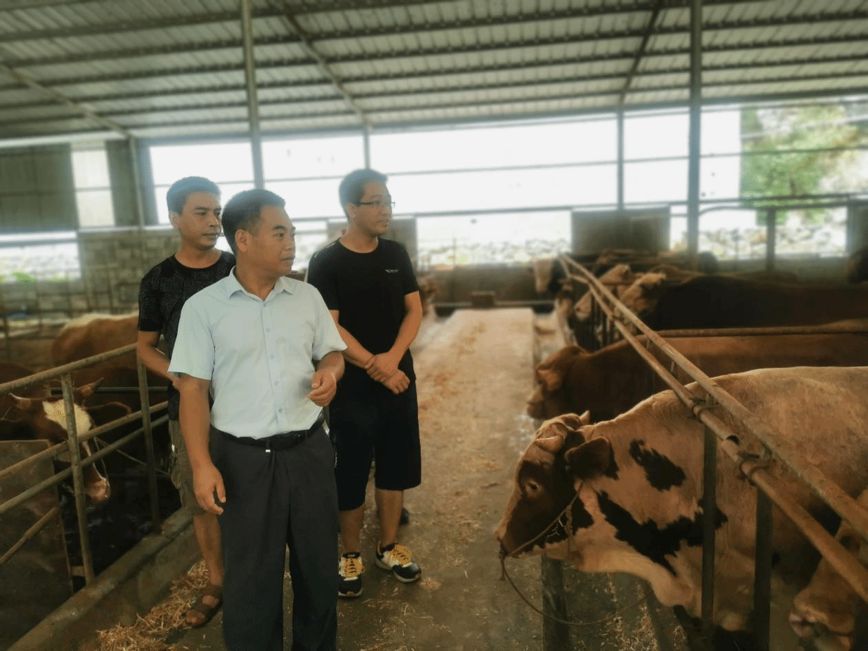
[[[778,507],[802,532],[832,567],[852,587],[863,602],[868,602],[868,569],[865,569],[852,552],[845,549],[817,520],[794,498],[781,490],[769,471],[769,464],[781,463],[806,484],[813,493],[834,510],[843,521],[850,523],[863,539],[868,540],[868,513],[836,483],[833,483],[816,466],[799,456],[799,450],[788,444],[773,427],[766,424],[761,415],[748,411],[712,378],[700,371],[681,352],[667,344],[666,336],[710,337],[736,335],[808,334],[814,332],[866,332],[865,327],[840,326],[790,326],[775,328],[729,328],[717,330],[680,330],[654,332],[633,312],[615,298],[593,273],[567,256],[559,257],[566,277],[575,286],[587,286],[592,299],[591,317],[580,328],[577,343],[590,348],[608,345],[615,340],[615,331],[620,332],[640,357],[672,390],[681,403],[687,406],[694,418],[705,425],[703,485],[707,487],[702,496],[703,513],[716,509],[715,484],[717,479],[718,449],[731,457],[740,468],[746,481],[757,490],[755,572],[753,585],[753,635],[756,648],[770,649],[771,573],[772,573],[772,509]],[[633,329],[645,335],[645,342],[637,339]],[[670,360],[670,368],[654,358],[646,345],[654,345]],[[706,393],[699,400],[687,391],[677,378],[675,368],[680,369]],[[764,451],[759,457],[740,450],[738,432],[732,431],[712,411],[726,411],[735,421],[762,444]],[[681,624],[687,633],[690,647],[697,651],[713,651],[713,598],[714,598],[714,518],[703,519],[702,549],[702,596],[701,624],[697,629],[683,609],[676,608]],[[681,610],[681,612],[680,612]],[[814,648],[811,641],[801,641],[802,646]]]

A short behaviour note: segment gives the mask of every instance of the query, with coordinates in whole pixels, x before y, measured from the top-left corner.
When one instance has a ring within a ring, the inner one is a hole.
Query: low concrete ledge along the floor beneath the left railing
[[[189,510],[175,511],[160,532],[143,538],[8,651],[94,648],[97,630],[132,623],[147,613],[168,595],[172,580],[200,558],[192,523]]]

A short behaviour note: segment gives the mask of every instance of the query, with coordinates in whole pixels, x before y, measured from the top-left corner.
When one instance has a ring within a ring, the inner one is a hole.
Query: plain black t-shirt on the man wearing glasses
[[[307,282],[319,289],[330,310],[338,310],[339,324],[376,355],[388,352],[398,339],[404,320],[404,296],[418,292],[410,256],[398,242],[379,238],[371,253],[356,253],[339,240],[313,254],[307,266]],[[415,379],[410,351],[398,364]],[[372,397],[391,391],[368,377],[365,369],[347,364],[339,392],[353,391]]]

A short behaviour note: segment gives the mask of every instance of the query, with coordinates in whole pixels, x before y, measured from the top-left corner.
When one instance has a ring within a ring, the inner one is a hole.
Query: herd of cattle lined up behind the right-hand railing
[[[815,334],[676,336],[667,343],[868,506],[868,283],[695,273],[669,260],[656,262],[643,262],[644,273],[626,264],[596,268],[602,282],[655,330],[839,321]],[[858,260],[850,265],[857,268]],[[546,279],[537,280],[545,290]],[[569,301],[575,325],[589,318],[590,299],[573,305],[572,296],[556,294]],[[833,332],[863,328],[865,333]],[[668,368],[668,358],[656,350],[649,352]],[[527,411],[544,422],[519,461],[496,532],[502,555],[545,554],[569,558],[583,571],[639,575],[662,603],[698,617],[703,425],[672,391],[663,391],[625,341],[595,352],[566,345],[536,366],[535,377]],[[704,398],[698,386],[688,389]],[[718,415],[732,424],[725,412]],[[746,454],[760,451],[747,435],[740,447]],[[718,464],[714,621],[739,630],[752,612],[756,494],[726,455]],[[834,514],[792,472],[773,468],[799,503],[835,526]],[[857,595],[825,560],[811,574],[805,559],[816,555],[777,511],[773,531],[779,573],[804,587],[790,611],[793,631],[821,648],[851,649]],[[861,536],[846,523],[838,541],[855,556],[862,551]]]

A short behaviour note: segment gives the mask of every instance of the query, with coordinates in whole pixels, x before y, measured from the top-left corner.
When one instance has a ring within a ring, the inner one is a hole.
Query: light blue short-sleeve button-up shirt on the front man
[[[315,359],[346,348],[315,287],[280,278],[265,300],[226,278],[187,299],[169,372],[211,381],[211,424],[236,437],[306,430]]]

